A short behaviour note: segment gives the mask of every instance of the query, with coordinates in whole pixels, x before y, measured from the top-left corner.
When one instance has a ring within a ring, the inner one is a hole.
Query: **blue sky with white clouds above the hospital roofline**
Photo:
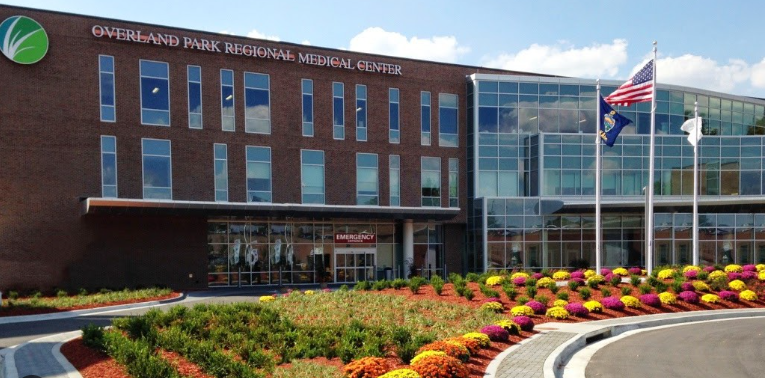
[[[765,2],[719,0],[0,0],[56,10],[513,71],[657,81],[765,98]]]

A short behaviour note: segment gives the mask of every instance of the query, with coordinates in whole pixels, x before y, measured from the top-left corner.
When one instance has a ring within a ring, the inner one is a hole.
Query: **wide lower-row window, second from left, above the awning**
[[[173,199],[173,168],[170,141],[141,139],[143,198]]]

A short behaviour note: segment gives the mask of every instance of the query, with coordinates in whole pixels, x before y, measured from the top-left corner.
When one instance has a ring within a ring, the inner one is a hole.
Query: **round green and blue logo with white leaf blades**
[[[37,63],[48,52],[48,34],[29,17],[9,17],[0,24],[0,51],[16,63]]]

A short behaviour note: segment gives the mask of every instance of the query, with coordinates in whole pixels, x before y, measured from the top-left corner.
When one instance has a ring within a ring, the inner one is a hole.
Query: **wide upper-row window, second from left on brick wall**
[[[170,126],[170,68],[141,60],[141,123]]]

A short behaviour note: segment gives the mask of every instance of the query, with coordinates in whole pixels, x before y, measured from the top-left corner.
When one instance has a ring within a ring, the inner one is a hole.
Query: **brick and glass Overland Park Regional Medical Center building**
[[[16,57],[0,59],[2,288],[594,261],[591,80],[10,6],[3,36],[29,23],[13,16],[44,28],[29,41],[47,54],[2,46]],[[663,85],[657,97],[657,263],[689,261],[679,125],[694,101],[708,119],[702,258],[765,261],[765,101]],[[607,266],[644,260],[647,108],[618,109],[635,125],[604,150]]]

